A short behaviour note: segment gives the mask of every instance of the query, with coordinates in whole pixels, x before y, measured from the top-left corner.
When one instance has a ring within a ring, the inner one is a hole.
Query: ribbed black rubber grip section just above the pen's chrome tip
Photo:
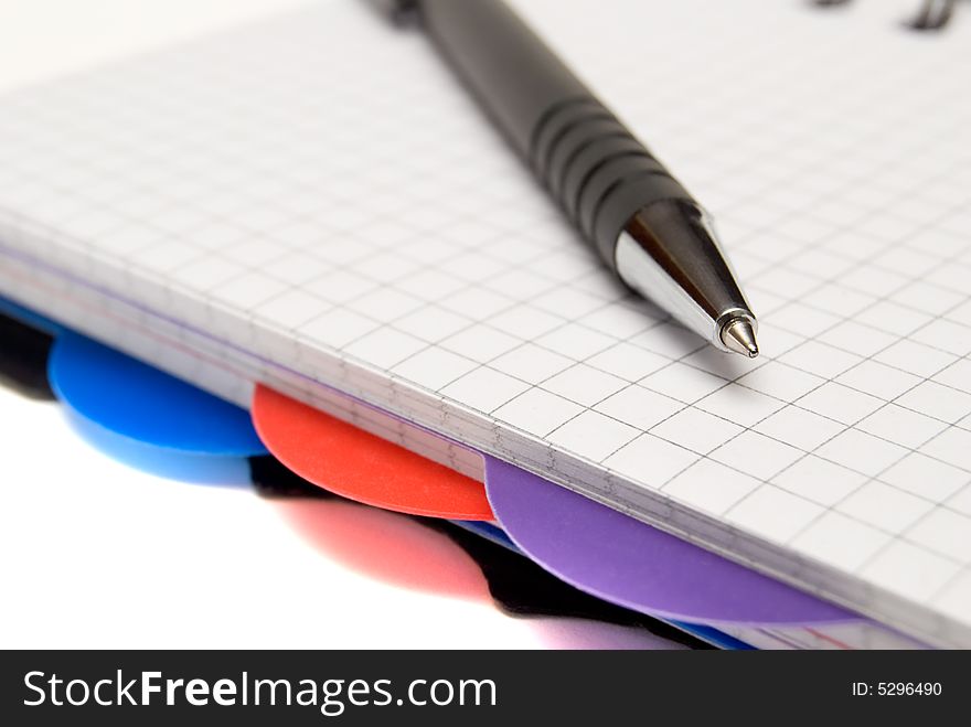
[[[530,162],[564,212],[611,267],[617,238],[641,207],[692,201],[677,180],[591,96],[549,108],[530,142]]]

